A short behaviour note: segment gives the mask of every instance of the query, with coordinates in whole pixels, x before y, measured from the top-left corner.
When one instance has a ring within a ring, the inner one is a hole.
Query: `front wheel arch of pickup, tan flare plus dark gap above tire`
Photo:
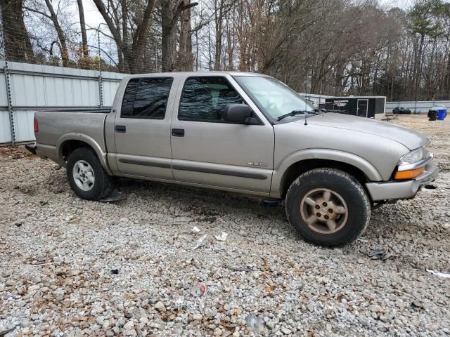
[[[286,157],[274,171],[271,197],[284,198],[293,181],[311,169],[329,167],[354,176],[364,186],[369,181],[381,181],[382,176],[370,162],[355,154],[333,150],[311,149]]]

